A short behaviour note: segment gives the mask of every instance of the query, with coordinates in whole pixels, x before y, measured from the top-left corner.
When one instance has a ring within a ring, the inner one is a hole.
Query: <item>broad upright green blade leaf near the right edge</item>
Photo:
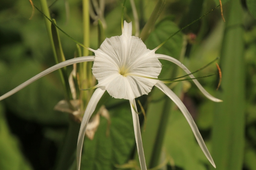
[[[222,84],[218,96],[223,102],[217,104],[214,113],[212,158],[216,170],[241,170],[245,143],[243,8],[240,0],[229,1],[226,5],[229,9],[225,15],[228,17],[221,49]]]

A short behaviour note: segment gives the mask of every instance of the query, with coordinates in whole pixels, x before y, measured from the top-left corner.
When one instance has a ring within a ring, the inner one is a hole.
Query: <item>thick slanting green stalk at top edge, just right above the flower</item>
[[[157,18],[160,16],[160,13],[162,12],[163,8],[165,5],[165,0],[158,0],[156,7],[154,8],[152,14],[150,15],[147,23],[145,24],[145,26],[143,27],[139,38],[141,38],[141,40],[144,42],[145,40],[147,40],[149,34],[152,32],[156,20]]]

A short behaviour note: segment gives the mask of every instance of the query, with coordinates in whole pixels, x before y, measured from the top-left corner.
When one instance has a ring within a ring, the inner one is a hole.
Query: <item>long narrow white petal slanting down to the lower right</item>
[[[180,111],[185,116],[186,120],[188,121],[188,124],[189,124],[190,128],[192,129],[199,146],[201,147],[202,151],[204,152],[204,155],[211,162],[212,166],[216,168],[216,166],[213,162],[212,156],[211,156],[207,147],[204,144],[204,140],[203,140],[203,138],[202,138],[197,126],[196,126],[196,123],[194,122],[192,116],[188,112],[188,109],[182,103],[180,98],[174,92],[172,92],[172,90],[170,90],[166,85],[164,85],[163,83],[156,83],[155,86],[157,88],[159,88],[162,92],[164,92],[180,108]]]

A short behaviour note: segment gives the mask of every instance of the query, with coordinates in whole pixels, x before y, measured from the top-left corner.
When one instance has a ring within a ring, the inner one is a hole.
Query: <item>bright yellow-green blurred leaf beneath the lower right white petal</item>
[[[197,144],[188,122],[179,110],[172,111],[169,117],[164,147],[167,155],[171,156],[175,166],[184,170],[205,170],[208,160]],[[208,147],[209,149],[209,147]]]

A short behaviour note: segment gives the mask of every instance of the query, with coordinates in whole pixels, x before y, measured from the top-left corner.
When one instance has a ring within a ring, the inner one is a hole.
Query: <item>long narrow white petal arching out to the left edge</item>
[[[51,73],[52,71],[58,70],[62,67],[65,67],[65,66],[68,66],[68,65],[71,65],[71,64],[82,63],[82,62],[87,62],[87,61],[94,61],[94,56],[77,57],[77,58],[73,58],[73,59],[58,63],[58,64],[50,67],[49,69],[46,69],[46,70],[42,71],[41,73],[37,74],[36,76],[30,78],[29,80],[27,80],[24,83],[22,83],[21,85],[15,87],[11,91],[5,93],[3,96],[0,97],[0,100],[3,100],[5,98],[11,96],[12,94],[20,91],[21,89],[23,89],[24,87],[26,87],[30,83],[32,83],[32,82],[36,81],[37,79],[45,76],[46,74]]]

